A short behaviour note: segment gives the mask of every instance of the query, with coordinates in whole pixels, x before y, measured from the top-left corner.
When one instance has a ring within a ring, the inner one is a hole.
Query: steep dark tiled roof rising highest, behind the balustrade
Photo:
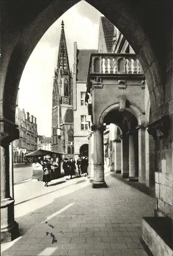
[[[101,16],[101,23],[103,26],[104,38],[106,43],[107,52],[112,52],[113,37],[115,34],[115,26],[104,16]]]

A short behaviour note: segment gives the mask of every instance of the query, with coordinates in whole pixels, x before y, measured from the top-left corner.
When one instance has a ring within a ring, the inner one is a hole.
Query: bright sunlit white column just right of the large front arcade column
[[[117,174],[121,173],[121,140],[113,140],[114,142],[114,169]]]

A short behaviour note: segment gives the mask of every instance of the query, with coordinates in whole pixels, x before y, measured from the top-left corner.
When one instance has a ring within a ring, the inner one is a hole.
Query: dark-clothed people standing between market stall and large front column
[[[76,170],[76,164],[78,167],[78,172]],[[79,156],[77,159],[77,162],[73,158],[65,158],[63,161],[62,168],[64,170],[64,175],[69,176],[70,179],[72,179],[73,175],[75,176],[81,176],[81,174],[84,174],[84,176],[88,175],[88,157],[81,157]],[[69,179],[67,178],[67,180]]]

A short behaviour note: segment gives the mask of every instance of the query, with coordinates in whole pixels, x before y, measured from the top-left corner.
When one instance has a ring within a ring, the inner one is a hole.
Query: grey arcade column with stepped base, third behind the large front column
[[[129,181],[138,181],[136,169],[134,134],[129,134]]]

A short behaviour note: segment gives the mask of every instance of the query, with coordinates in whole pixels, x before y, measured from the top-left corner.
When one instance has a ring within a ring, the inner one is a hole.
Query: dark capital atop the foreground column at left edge
[[[1,117],[1,145],[10,144],[13,140],[19,138],[18,125],[11,122],[10,120]]]

